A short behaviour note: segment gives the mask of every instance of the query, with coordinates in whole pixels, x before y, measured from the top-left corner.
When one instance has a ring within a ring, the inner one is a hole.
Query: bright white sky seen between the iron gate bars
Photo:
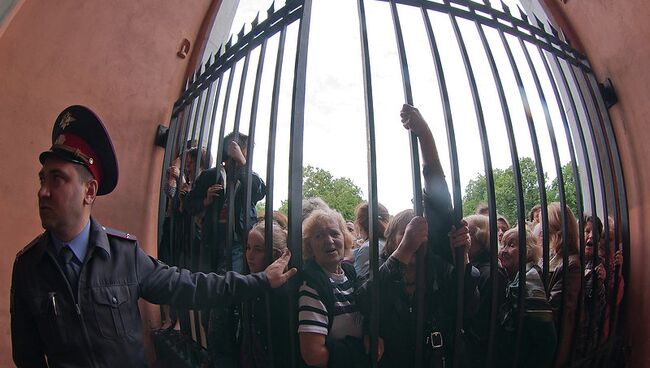
[[[509,0],[506,3],[515,1]],[[276,2],[276,8],[282,6],[283,3],[283,1]],[[266,18],[266,9],[270,4],[270,0],[241,0],[233,21],[232,32],[239,31],[243,23],[250,23],[258,11],[262,12],[262,19]],[[365,4],[377,129],[378,197],[379,201],[394,214],[412,207],[408,134],[402,128],[399,120],[399,110],[405,98],[402,92],[399,59],[389,6],[386,2],[381,1],[366,1]],[[496,2],[494,6],[500,8]],[[422,17],[419,9],[405,6],[398,8],[414,102],[429,122],[434,133],[438,151],[450,182],[446,127],[433,58]],[[430,12],[429,16],[436,33],[445,69],[459,151],[461,185],[464,188],[477,173],[484,172],[476,114],[451,23],[446,14]],[[492,165],[494,168],[506,168],[512,164],[510,149],[506,138],[503,114],[485,51],[475,25],[460,19],[459,25],[472,60],[474,73],[478,78],[477,85],[485,114]],[[289,28],[285,46],[276,144],[274,208],[278,208],[280,201],[287,198],[288,137],[297,27],[298,22],[295,22]],[[512,69],[497,31],[491,28],[484,29],[488,42],[492,46],[496,63],[500,66],[499,73],[506,90],[510,116],[513,119],[519,157],[533,157],[527,120]],[[247,26],[246,32],[249,30],[250,26]],[[507,36],[507,39],[524,80],[542,151],[542,164],[549,175],[549,180],[552,180],[555,177],[555,167],[541,103],[518,40],[510,36]],[[269,40],[267,46],[257,115],[259,118],[257,120],[253,168],[262,177],[266,175],[268,117],[270,116],[277,43],[276,35]],[[308,53],[304,165],[323,168],[335,177],[349,177],[361,187],[364,196],[367,196],[367,145],[360,50],[356,1],[314,0]],[[538,71],[542,71],[543,67],[536,49],[530,47],[529,51],[533,56],[536,68]],[[259,49],[253,52],[248,71],[248,84],[245,89],[244,108],[240,123],[242,132],[247,132],[250,121],[252,85],[258,58]],[[231,131],[233,126],[242,67],[243,62],[240,62],[235,73],[236,79],[229,102],[226,132]],[[566,148],[564,131],[561,128],[557,103],[554,102],[547,78],[542,77],[541,80],[551,110],[558,147],[561,151],[561,161],[564,164],[569,160],[569,153]],[[224,83],[220,106],[223,104],[225,87]],[[222,110],[219,109],[217,124],[221,121],[221,114]]]

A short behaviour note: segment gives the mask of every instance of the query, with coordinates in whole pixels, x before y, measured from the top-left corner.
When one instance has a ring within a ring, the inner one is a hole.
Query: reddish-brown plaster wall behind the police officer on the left
[[[176,56],[178,47],[183,38],[194,46],[211,3],[23,0],[0,26],[1,367],[13,366],[13,260],[42,231],[38,154],[51,144],[54,119],[72,104],[87,105],[103,119],[120,180],[97,200],[94,216],[136,234],[155,254],[163,149],[154,145],[154,135],[159,123],[167,124],[182,88],[189,58]],[[145,325],[158,323],[157,313],[144,308]]]

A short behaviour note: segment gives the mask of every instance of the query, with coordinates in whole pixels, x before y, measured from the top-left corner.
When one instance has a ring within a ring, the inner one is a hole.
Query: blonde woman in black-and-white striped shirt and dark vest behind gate
[[[356,272],[342,262],[352,243],[343,217],[331,209],[314,210],[303,222],[302,240],[298,337],[303,360],[315,367],[367,366]]]

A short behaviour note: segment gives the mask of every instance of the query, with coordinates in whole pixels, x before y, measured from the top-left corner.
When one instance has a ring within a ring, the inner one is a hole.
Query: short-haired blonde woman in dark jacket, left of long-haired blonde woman
[[[524,319],[522,324],[519,367],[549,367],[557,343],[553,312],[546,299],[546,289],[538,266],[542,249],[527,227],[526,244],[526,282],[524,285]],[[503,234],[499,249],[500,267],[508,278],[505,300],[500,301],[500,328],[497,333],[497,366],[512,367],[517,344],[517,325],[519,305],[519,284],[523,281],[519,274],[519,228],[514,227]]]

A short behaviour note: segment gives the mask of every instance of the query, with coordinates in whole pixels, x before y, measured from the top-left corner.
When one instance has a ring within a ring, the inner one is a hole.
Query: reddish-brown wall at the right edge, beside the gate
[[[629,279],[623,310],[631,367],[650,366],[650,2],[545,0],[599,81],[610,78],[619,102],[610,110],[623,162],[630,211]]]

